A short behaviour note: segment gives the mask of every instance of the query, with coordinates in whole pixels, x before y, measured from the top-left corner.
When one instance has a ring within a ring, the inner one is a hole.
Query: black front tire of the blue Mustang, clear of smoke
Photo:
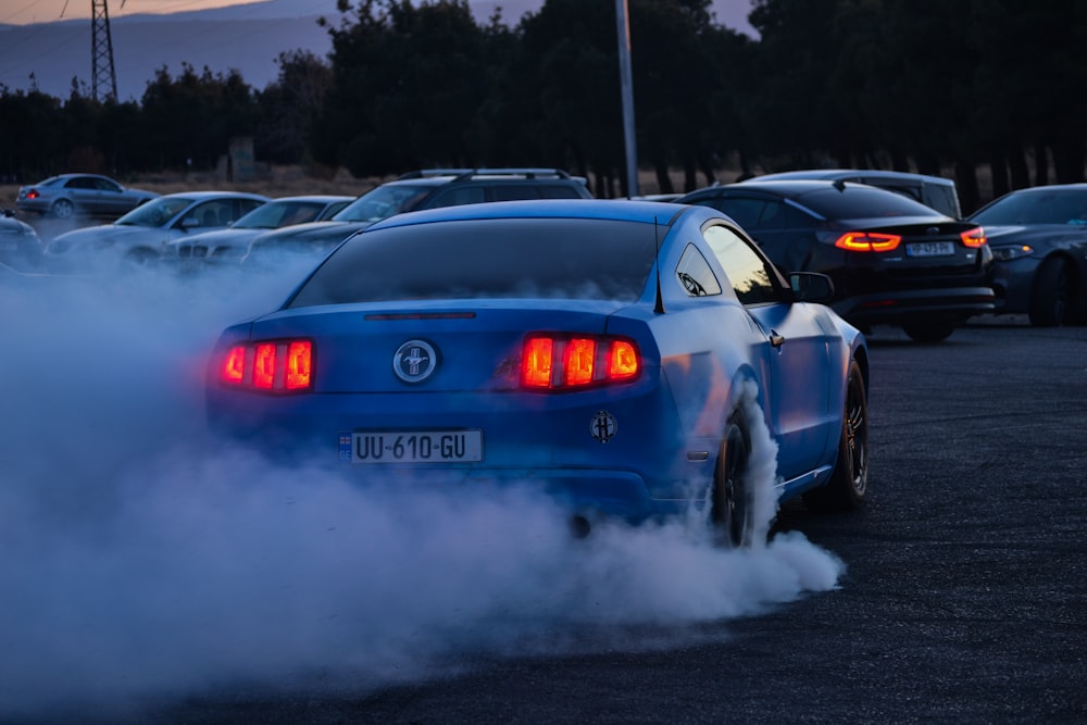
[[[869,489],[869,402],[864,375],[857,361],[849,364],[846,408],[834,473],[826,486],[804,493],[813,511],[851,511],[864,503]]]

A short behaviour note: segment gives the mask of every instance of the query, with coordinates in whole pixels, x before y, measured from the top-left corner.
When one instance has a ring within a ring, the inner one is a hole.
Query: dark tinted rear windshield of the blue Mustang
[[[472,297],[634,301],[655,258],[651,224],[470,220],[358,234],[287,308]]]

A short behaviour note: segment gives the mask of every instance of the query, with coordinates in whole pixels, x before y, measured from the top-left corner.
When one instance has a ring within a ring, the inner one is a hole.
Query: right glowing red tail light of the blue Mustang
[[[522,349],[521,385],[535,390],[576,390],[626,383],[640,370],[637,346],[624,338],[530,335]]]

